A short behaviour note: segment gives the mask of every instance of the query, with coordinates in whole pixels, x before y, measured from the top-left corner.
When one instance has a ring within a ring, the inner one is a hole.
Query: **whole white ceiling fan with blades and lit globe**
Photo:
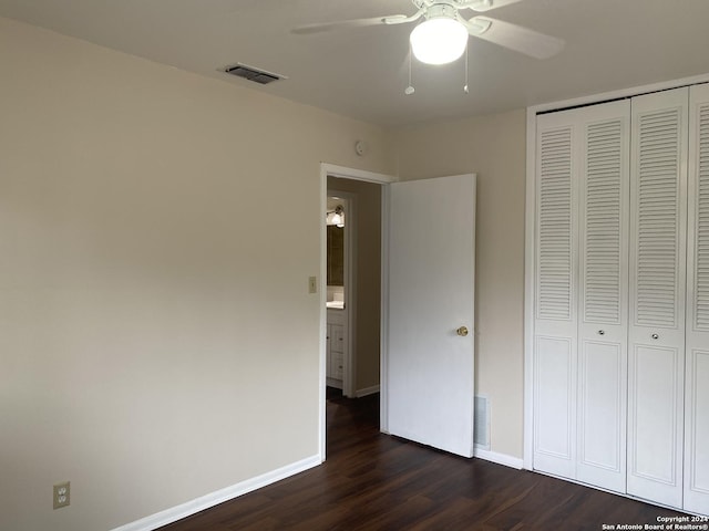
[[[292,33],[308,34],[341,28],[393,25],[417,22],[411,32],[411,51],[427,64],[445,64],[459,59],[467,46],[469,35],[484,39],[535,59],[551,58],[564,48],[564,41],[521,25],[489,17],[464,18],[465,10],[485,12],[522,0],[411,0],[412,15],[392,14],[369,19],[341,20],[301,25]]]

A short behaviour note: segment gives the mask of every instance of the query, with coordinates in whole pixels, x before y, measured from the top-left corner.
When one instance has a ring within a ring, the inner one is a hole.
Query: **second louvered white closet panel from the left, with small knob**
[[[583,124],[576,479],[625,492],[630,102],[576,113]]]

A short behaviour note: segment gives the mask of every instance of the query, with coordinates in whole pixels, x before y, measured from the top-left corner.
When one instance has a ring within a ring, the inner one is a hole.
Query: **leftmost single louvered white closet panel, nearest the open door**
[[[537,117],[534,468],[575,476],[577,171],[579,129],[566,113]]]

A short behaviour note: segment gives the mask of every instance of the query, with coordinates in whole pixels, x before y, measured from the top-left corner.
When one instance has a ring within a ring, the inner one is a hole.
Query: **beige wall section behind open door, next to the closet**
[[[477,174],[476,393],[490,398],[491,450],[522,457],[524,110],[397,132],[402,180]]]

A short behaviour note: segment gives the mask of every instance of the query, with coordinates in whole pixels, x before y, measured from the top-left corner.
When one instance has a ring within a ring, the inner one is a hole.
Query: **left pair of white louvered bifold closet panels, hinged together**
[[[534,468],[625,491],[629,101],[537,117]]]

